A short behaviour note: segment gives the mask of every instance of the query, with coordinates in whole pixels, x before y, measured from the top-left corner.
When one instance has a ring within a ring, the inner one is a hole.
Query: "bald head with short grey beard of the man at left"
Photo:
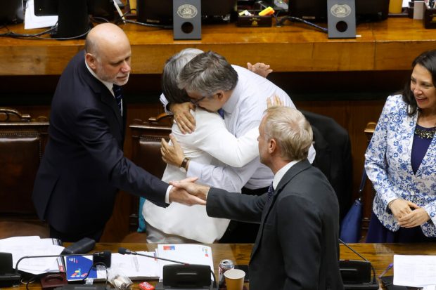
[[[103,81],[127,83],[132,54],[127,35],[112,23],[97,25],[85,41],[86,63]]]

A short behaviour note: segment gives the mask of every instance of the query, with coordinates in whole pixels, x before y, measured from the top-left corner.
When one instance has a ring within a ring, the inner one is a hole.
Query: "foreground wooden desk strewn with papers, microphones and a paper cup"
[[[154,251],[157,244],[113,244],[101,243],[96,245],[94,251],[110,250],[117,252],[120,246],[132,251]],[[214,256],[214,270],[218,273],[218,264],[224,258],[229,258],[236,264],[246,265],[250,261],[250,253],[252,244],[210,244]],[[435,255],[436,244],[350,244],[350,246],[364,256],[376,270],[376,275],[380,275],[383,270],[392,263],[394,254],[409,254],[409,255]],[[355,253],[347,249],[344,245],[340,245],[340,258],[359,260]],[[392,270],[386,275],[392,275]],[[134,282],[134,290],[138,289],[137,282]],[[40,289],[39,284],[31,286],[32,289]],[[16,288],[14,288],[16,289]],[[25,286],[21,286],[20,290],[24,290]],[[12,289],[11,289],[12,290]]]

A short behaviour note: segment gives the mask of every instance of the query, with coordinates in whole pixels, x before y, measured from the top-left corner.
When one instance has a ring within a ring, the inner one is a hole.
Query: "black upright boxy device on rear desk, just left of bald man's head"
[[[58,30],[56,38],[85,38],[89,31],[87,0],[58,1]]]

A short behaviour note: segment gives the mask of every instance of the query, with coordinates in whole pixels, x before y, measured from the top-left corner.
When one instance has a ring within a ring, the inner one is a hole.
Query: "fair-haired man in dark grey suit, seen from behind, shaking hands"
[[[290,107],[270,107],[266,113],[259,126],[259,155],[274,173],[274,190],[251,196],[188,180],[174,185],[206,200],[209,216],[260,223],[250,289],[343,289],[338,199],[307,160],[312,128]]]

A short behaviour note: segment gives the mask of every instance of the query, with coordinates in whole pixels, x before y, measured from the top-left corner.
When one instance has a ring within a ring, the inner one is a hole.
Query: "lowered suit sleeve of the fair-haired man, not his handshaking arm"
[[[277,232],[287,276],[283,289],[318,289],[321,217],[304,197],[292,195],[277,202]]]

